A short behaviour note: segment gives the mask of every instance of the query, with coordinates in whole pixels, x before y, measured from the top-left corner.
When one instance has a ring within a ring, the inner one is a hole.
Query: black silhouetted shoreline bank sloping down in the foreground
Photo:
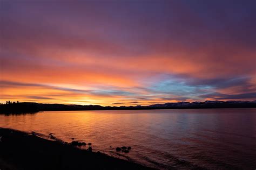
[[[0,169],[151,168],[30,133],[0,128]]]

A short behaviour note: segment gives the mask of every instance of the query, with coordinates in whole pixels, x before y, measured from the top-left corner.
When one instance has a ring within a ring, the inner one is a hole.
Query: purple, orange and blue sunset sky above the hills
[[[0,103],[256,100],[256,1],[0,2]]]

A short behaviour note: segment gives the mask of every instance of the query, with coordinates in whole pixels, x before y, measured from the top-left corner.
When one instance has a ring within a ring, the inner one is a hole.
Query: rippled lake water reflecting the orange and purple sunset
[[[256,109],[45,111],[0,115],[0,126],[160,169],[256,168]],[[132,150],[116,152],[122,146]]]

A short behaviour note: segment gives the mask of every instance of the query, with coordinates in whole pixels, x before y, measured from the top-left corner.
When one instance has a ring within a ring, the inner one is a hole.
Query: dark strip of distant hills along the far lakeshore
[[[256,108],[256,101],[205,101],[205,102],[176,102],[165,104],[153,104],[148,106],[130,107],[103,107],[101,105],[66,105],[66,104],[42,104],[42,103],[10,103],[1,104],[0,113],[22,114],[38,111],[65,111],[65,110],[142,110],[142,109],[210,109],[210,108]]]

